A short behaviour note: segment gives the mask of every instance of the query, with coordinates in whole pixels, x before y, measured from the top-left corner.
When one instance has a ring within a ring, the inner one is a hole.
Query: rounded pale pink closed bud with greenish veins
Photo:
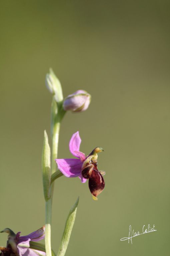
[[[64,99],[63,108],[73,112],[82,112],[88,108],[90,101],[91,95],[89,93],[78,90]]]

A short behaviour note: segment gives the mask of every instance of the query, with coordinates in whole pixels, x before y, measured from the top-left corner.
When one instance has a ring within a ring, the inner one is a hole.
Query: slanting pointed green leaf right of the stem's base
[[[75,218],[76,218],[78,202],[79,202],[79,197],[77,198],[77,201],[75,202],[75,204],[71,208],[71,210],[69,212],[69,215],[67,217],[63,237],[62,237],[62,240],[61,240],[61,244],[60,244],[57,256],[64,256],[65,253],[66,253],[67,246],[68,246],[68,243],[69,243],[69,240],[70,240],[71,232],[72,232],[74,222],[75,222]]]

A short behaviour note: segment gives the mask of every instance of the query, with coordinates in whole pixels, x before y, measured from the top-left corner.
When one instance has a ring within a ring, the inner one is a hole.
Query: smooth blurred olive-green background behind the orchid
[[[67,113],[59,158],[79,131],[81,151],[104,148],[106,187],[92,200],[77,178],[56,181],[52,247],[80,196],[66,255],[169,255],[170,2],[0,1],[0,229],[26,235],[44,224],[43,133],[50,136],[52,67],[63,94],[87,90],[86,112]],[[120,241],[129,225],[156,232]],[[0,235],[5,246],[6,234]]]

